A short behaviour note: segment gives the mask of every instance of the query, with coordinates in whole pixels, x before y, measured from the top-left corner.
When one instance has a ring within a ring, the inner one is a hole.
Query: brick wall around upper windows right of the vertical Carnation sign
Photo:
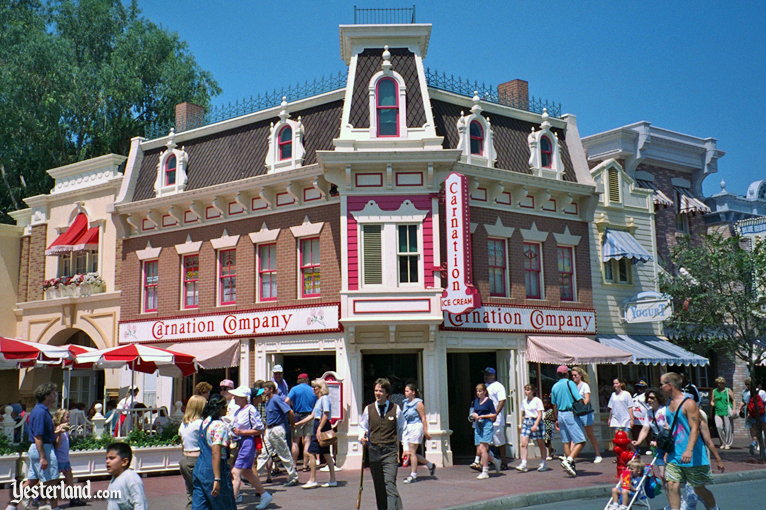
[[[507,243],[509,272],[510,272],[510,297],[496,297],[489,295],[489,268],[487,259],[487,234],[482,225],[494,225],[500,217],[503,225],[514,227],[516,230]],[[442,216],[444,217],[444,216]],[[593,306],[593,288],[590,274],[590,248],[588,237],[588,225],[581,221],[566,221],[558,218],[534,217],[526,214],[518,214],[506,211],[496,211],[486,208],[471,207],[471,223],[479,226],[472,234],[473,242],[473,281],[479,289],[483,302],[507,303],[507,304],[536,304],[542,306],[584,307]],[[543,278],[544,298],[527,301],[526,287],[524,285],[523,265],[523,238],[520,229],[529,229],[535,223],[537,229],[549,232],[548,238],[542,243],[543,254]],[[576,278],[576,301],[560,300],[560,282],[558,262],[556,258],[556,239],[554,233],[564,232],[569,227],[572,235],[580,236],[580,244],[575,247],[575,278]],[[442,246],[444,233],[442,233]],[[442,255],[442,260],[445,256]]]

